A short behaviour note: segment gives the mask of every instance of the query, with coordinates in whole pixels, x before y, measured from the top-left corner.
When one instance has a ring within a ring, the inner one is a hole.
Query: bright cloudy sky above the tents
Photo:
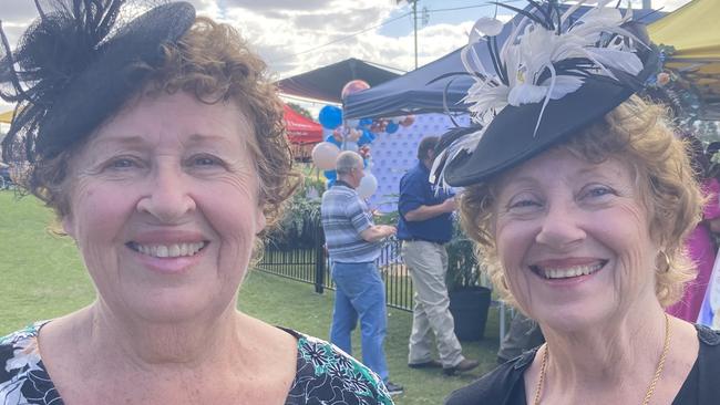
[[[275,77],[357,58],[400,71],[414,69],[412,8],[397,0],[189,0],[198,14],[235,25]],[[671,11],[689,0],[652,0]],[[524,6],[522,0],[503,1]],[[632,0],[639,7],[641,0]],[[466,32],[496,7],[487,0],[419,0],[418,61],[431,62],[466,42]],[[423,18],[424,15],[424,18]],[[37,17],[33,0],[2,0],[10,43]],[[500,8],[497,18],[510,12]],[[2,105],[0,105],[2,107]],[[7,108],[1,108],[2,111]]]

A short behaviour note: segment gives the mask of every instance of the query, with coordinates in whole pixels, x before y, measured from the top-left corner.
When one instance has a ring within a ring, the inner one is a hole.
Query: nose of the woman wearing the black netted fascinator
[[[196,209],[186,176],[179,168],[157,167],[151,175],[146,194],[137,201],[137,210],[163,224],[182,221]]]

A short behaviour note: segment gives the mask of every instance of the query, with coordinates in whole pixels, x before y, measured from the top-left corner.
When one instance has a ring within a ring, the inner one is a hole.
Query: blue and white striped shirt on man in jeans
[[[331,260],[362,263],[380,256],[381,241],[368,242],[360,237],[360,232],[374,224],[368,206],[353,188],[337,183],[325,191],[320,215]]]

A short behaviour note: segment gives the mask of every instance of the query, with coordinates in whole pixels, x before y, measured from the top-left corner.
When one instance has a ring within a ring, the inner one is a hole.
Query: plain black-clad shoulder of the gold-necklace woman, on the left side
[[[446,398],[445,405],[470,404],[511,404],[516,390],[523,388],[523,374],[533,363],[536,349],[497,366],[474,383],[453,391]],[[520,384],[520,385],[518,385]]]

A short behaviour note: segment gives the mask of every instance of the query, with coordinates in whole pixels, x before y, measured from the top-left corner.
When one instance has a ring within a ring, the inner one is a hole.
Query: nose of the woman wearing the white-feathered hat
[[[554,205],[541,219],[541,228],[535,241],[554,249],[570,247],[583,239],[586,233],[580,226],[580,212],[568,205]]]

